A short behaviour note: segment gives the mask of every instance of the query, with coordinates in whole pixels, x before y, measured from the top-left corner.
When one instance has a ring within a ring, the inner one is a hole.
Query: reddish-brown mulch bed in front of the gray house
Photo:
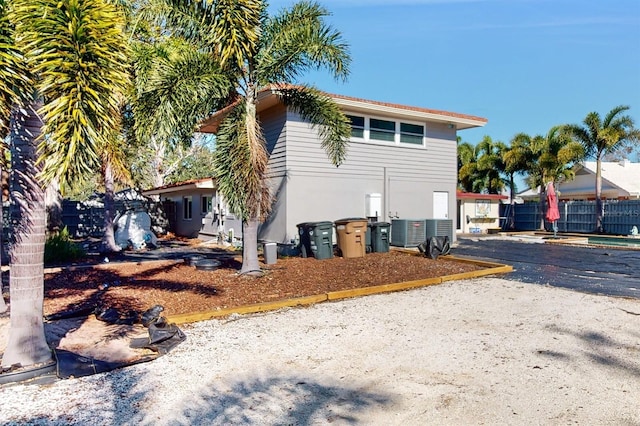
[[[381,284],[470,272],[482,267],[398,251],[361,258],[282,258],[261,277],[240,276],[237,254],[214,271],[154,261],[63,269],[45,275],[45,315],[93,307],[121,313],[162,305],[165,314],[216,310]]]

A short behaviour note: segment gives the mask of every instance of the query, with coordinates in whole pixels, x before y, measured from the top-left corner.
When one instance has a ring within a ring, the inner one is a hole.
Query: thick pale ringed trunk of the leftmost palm
[[[44,334],[44,190],[37,179],[37,105],[11,117],[11,322],[2,366],[23,367],[51,360]]]

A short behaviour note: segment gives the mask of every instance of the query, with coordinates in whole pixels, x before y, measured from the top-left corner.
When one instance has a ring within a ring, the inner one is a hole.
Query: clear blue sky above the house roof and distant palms
[[[546,134],[617,105],[640,127],[640,0],[319,3],[353,61],[346,83],[303,79],[327,92],[487,118],[459,133],[472,144]]]

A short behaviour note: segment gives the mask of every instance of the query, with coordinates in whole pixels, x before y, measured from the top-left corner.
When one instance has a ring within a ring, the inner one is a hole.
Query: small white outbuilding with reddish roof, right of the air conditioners
[[[500,203],[509,197],[502,194],[477,194],[458,191],[458,221],[456,231],[488,233],[500,227]]]

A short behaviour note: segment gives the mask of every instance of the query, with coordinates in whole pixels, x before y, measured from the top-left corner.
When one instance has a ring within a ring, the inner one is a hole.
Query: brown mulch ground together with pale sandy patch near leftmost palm
[[[481,269],[446,256],[433,260],[392,250],[362,258],[281,258],[261,265],[264,275],[255,277],[238,274],[242,259],[237,252],[211,255],[220,266],[209,271],[189,259],[103,264],[87,259],[93,264],[48,269],[44,313],[49,345],[92,359],[131,362],[153,354],[130,344],[148,337],[140,316],[155,305],[164,308],[163,316],[172,316]],[[0,317],[0,353],[8,333],[5,314]]]

